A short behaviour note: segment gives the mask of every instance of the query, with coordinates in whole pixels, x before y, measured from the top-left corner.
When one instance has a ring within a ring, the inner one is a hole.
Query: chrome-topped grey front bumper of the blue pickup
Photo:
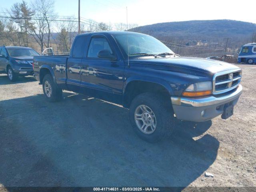
[[[242,94],[242,85],[229,94],[201,98],[171,97],[176,118],[187,121],[207,121],[224,112],[224,106],[235,105]]]

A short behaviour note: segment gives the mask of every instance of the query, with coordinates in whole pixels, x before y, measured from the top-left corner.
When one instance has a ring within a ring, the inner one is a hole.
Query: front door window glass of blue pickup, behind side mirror
[[[98,52],[100,52],[101,50],[109,50],[110,54],[113,54],[113,51],[110,48],[110,45],[106,38],[93,37],[88,48],[87,57],[98,58]]]

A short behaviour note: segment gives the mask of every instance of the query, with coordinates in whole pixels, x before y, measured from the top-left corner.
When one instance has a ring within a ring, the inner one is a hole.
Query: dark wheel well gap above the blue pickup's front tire
[[[164,100],[167,101],[167,104],[172,107],[170,93],[168,92],[168,90],[166,90],[164,86],[157,83],[144,81],[132,81],[126,86],[123,98],[123,106],[129,108],[132,100],[137,95],[145,92],[155,92],[161,94]]]

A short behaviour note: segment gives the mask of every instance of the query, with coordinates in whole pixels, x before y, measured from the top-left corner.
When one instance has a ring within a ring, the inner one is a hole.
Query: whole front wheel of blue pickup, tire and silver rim
[[[134,131],[147,142],[157,142],[172,133],[171,106],[158,94],[136,96],[130,105],[129,116]]]

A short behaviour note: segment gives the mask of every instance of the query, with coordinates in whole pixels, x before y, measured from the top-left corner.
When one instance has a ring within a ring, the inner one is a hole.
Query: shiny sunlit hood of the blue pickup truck
[[[203,58],[190,58],[190,57],[178,57],[178,58],[154,58],[143,59],[140,57],[138,60],[131,60],[131,62],[140,62],[145,64],[165,65],[174,68],[186,68],[189,70],[197,70],[206,72],[208,74],[215,74],[218,72],[240,69],[239,67],[212,59]]]

